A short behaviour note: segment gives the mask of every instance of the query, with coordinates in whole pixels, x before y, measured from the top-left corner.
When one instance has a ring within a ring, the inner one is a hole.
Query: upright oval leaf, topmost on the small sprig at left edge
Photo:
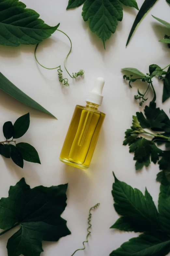
[[[14,123],[14,139],[22,137],[30,126],[30,114],[19,117]]]

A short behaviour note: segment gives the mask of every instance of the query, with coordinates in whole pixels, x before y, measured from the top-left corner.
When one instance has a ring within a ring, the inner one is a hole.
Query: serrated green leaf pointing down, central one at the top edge
[[[82,17],[89,21],[89,27],[105,42],[115,33],[118,21],[123,18],[123,10],[119,0],[86,0]]]

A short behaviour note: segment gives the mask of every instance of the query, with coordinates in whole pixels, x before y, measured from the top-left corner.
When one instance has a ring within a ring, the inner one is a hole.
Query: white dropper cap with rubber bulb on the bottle
[[[102,91],[104,84],[105,80],[102,77],[98,77],[95,82],[94,88],[91,92],[88,93],[86,101],[101,106],[103,100]]]

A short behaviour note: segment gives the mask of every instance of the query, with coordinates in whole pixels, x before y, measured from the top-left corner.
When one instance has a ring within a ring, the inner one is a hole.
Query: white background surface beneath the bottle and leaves
[[[92,236],[89,237],[89,244],[85,251],[77,252],[76,255],[108,256],[123,242],[137,236],[133,232],[109,229],[119,217],[113,208],[111,195],[114,181],[112,171],[118,179],[142,192],[146,186],[157,205],[159,184],[155,179],[159,171],[158,165],[151,163],[149,168],[136,173],[133,154],[129,154],[128,146],[122,145],[124,131],[130,128],[132,115],[143,108],[134,100],[137,84],[134,83],[134,88],[130,90],[122,79],[120,69],[135,67],[147,73],[150,64],[161,67],[169,64],[170,49],[166,44],[158,42],[169,31],[155,21],[151,14],[170,22],[170,6],[165,0],[157,1],[138,26],[127,48],[126,40],[137,10],[123,6],[123,21],[119,22],[116,33],[106,42],[104,50],[102,41],[90,31],[88,23],[83,21],[82,7],[66,11],[67,0],[23,2],[27,8],[36,10],[40,18],[50,26],[60,22],[59,29],[68,34],[73,43],[66,66],[70,73],[84,69],[85,77],[73,80],[64,71],[63,61],[70,45],[68,39],[58,31],[40,44],[37,58],[47,67],[61,64],[64,77],[69,78],[69,87],[59,83],[56,70],[46,70],[36,64],[35,45],[0,46],[0,71],[58,118],[51,118],[0,92],[0,140],[4,140],[2,127],[6,121],[14,123],[18,117],[30,112],[30,128],[17,141],[33,145],[41,160],[41,165],[24,161],[24,168],[21,169],[11,159],[0,156],[0,197],[7,197],[9,186],[15,185],[22,177],[25,177],[31,187],[68,182],[67,207],[62,216],[68,221],[67,225],[72,234],[61,238],[59,242],[43,242],[44,252],[41,256],[70,256],[77,248],[81,248],[87,234],[89,208],[98,202],[101,205],[92,215]],[[139,8],[142,2],[143,0],[137,0]],[[106,113],[106,119],[90,168],[83,171],[60,162],[59,155],[75,105],[85,105],[87,93],[99,76],[106,80],[104,100],[100,107]],[[170,99],[162,104],[163,82],[157,78],[153,80],[157,106],[170,116]],[[141,86],[144,83],[139,83],[138,87]],[[149,99],[151,97],[152,94],[149,94]],[[7,240],[14,232],[15,230],[11,230],[0,238],[0,255],[7,256]]]

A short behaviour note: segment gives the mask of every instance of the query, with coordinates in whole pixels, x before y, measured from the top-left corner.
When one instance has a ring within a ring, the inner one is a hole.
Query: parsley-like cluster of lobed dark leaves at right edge
[[[163,110],[156,108],[155,103],[151,103],[149,107],[146,106],[144,113],[146,117],[142,112],[136,112],[136,116],[133,116],[131,129],[125,131],[123,145],[129,145],[129,152],[134,153],[136,170],[142,169],[143,166],[148,167],[150,162],[158,162],[160,170],[164,170],[168,177],[170,175],[170,150],[168,150],[170,119]],[[156,144],[164,144],[167,150],[163,151]],[[162,172],[157,176],[157,180],[161,179]]]

